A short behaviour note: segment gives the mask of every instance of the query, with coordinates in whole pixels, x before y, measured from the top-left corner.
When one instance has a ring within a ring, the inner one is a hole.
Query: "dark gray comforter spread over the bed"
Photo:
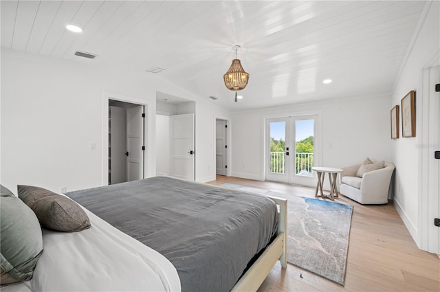
[[[278,225],[270,199],[170,177],[67,196],[168,258],[182,291],[230,291]]]

